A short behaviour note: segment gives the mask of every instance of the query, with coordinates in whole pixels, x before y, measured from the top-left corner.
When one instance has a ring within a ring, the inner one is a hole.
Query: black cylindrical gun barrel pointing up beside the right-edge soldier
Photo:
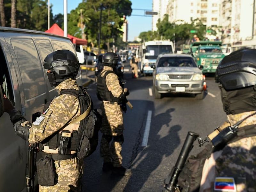
[[[180,151],[180,155],[176,161],[175,166],[172,168],[171,173],[167,176],[167,178],[164,180],[164,189],[162,192],[175,192],[179,191],[179,186],[177,186],[178,183],[178,177],[180,175],[180,172],[182,168],[184,167],[184,164],[187,161],[188,155],[193,148],[193,143],[198,138],[199,135],[194,132],[188,132],[186,140],[183,144],[183,147]]]

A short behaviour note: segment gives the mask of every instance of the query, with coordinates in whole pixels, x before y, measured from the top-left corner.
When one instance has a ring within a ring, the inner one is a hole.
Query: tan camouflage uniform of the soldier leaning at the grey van
[[[61,82],[56,89],[76,89],[78,86],[73,79],[67,79]],[[41,115],[41,119],[37,119],[29,129],[29,143],[40,143],[45,138],[58,132],[67,122],[75,119],[80,115],[80,105],[78,99],[69,94],[63,94],[54,98],[49,108]],[[78,129],[80,122],[66,126],[63,130]],[[72,132],[72,131],[71,131]],[[45,148],[46,146],[44,146]],[[45,149],[46,153],[58,153],[58,148]],[[71,153],[76,153],[71,151]],[[58,183],[54,186],[40,186],[39,191],[81,191],[81,177],[83,174],[84,163],[77,157],[55,161],[56,172],[58,174]]]

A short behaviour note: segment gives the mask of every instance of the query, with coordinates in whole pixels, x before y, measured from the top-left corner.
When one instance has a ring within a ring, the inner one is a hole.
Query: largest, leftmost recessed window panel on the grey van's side
[[[19,64],[25,100],[44,93],[44,71],[33,40],[15,38],[11,44]]]

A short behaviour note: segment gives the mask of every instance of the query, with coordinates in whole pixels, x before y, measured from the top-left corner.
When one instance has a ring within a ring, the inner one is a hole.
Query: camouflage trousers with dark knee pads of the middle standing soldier
[[[112,162],[113,166],[120,167],[122,165],[122,143],[123,139],[123,112],[120,105],[103,103],[102,125],[100,131],[103,136],[100,142],[100,156],[104,162]],[[111,145],[110,142],[114,137]]]

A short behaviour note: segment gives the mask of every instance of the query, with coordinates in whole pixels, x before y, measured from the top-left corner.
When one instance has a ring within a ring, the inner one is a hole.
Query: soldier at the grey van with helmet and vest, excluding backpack
[[[76,75],[80,65],[73,52],[59,50],[47,55],[44,59],[44,68],[47,70],[51,86],[56,87],[59,92],[47,110],[32,124],[20,115],[7,98],[4,98],[4,110],[9,113],[18,136],[30,144],[39,143],[39,150],[42,151],[43,156],[39,162],[45,163],[43,160],[48,162],[43,166],[37,162],[37,166],[40,167],[37,167],[39,191],[81,191],[84,163],[83,159],[77,157],[76,135],[78,135],[80,121],[83,120],[77,121],[76,118],[80,117],[83,109],[79,102],[80,97],[78,99],[75,95],[65,92],[79,91]],[[86,92],[83,94],[88,101],[83,103],[87,111],[90,110],[92,103],[89,102],[90,96]],[[72,120],[76,120],[76,123],[71,123]],[[61,142],[64,144],[62,145]],[[47,166],[48,164],[51,166]],[[52,177],[48,178],[47,173]],[[42,180],[44,180],[43,183]]]

